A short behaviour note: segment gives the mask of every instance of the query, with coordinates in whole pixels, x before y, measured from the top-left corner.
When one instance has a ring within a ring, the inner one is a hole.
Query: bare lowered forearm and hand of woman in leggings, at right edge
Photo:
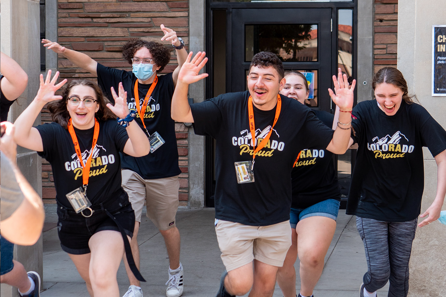
[[[419,223],[418,227],[430,224],[440,217],[440,212],[446,195],[446,150],[442,151],[434,158],[435,162],[437,162],[437,195],[435,196],[434,202],[420,216],[421,218],[424,218],[425,216],[428,217]]]

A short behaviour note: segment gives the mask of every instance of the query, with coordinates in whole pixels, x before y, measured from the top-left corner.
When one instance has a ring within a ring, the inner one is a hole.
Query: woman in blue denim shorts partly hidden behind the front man
[[[285,71],[286,84],[281,94],[304,104],[310,92],[306,77],[297,71]],[[333,114],[314,110],[327,126]],[[277,273],[284,297],[296,296],[294,262],[299,256],[301,289],[299,297],[313,296],[324,268],[324,257],[333,239],[339,211],[340,190],[333,153],[325,148],[308,148],[300,152],[292,170],[293,200],[289,223],[292,245]]]

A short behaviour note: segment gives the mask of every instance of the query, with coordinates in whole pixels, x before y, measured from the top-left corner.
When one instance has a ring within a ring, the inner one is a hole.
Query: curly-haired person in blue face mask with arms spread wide
[[[186,61],[184,42],[177,33],[161,24],[164,36],[161,41],[170,41],[175,49],[178,67],[173,73],[157,75],[170,61],[170,50],[154,41],[139,38],[129,40],[123,46],[123,57],[132,65],[132,71],[125,71],[101,65],[86,54],[66,49],[56,42],[42,40],[44,46],[61,53],[78,67],[98,76],[98,84],[113,102],[110,88],[122,81],[128,91],[129,110],[136,111],[136,122],[151,138],[151,152],[135,158],[120,154],[122,161],[122,186],[128,192],[135,210],[136,223],[131,242],[136,265],[139,267],[137,235],[144,201],[147,201],[147,216],[160,230],[169,255],[166,296],[178,297],[183,292],[183,267],[180,263],[180,233],[175,216],[178,209],[178,149],[175,136],[175,122],[170,117],[173,90],[178,80],[178,72]],[[137,98],[137,100],[135,100]],[[144,121],[141,121],[141,119]],[[161,146],[160,146],[161,145]],[[133,276],[125,261],[130,281],[124,295],[142,297],[140,282]]]

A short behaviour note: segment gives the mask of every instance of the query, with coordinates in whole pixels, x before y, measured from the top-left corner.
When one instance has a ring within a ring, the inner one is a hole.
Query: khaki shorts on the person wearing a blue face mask
[[[175,215],[178,210],[178,175],[164,179],[143,179],[135,171],[123,169],[122,187],[128,194],[128,200],[135,211],[135,219],[141,222],[142,207],[147,200],[147,217],[160,230],[175,227]]]

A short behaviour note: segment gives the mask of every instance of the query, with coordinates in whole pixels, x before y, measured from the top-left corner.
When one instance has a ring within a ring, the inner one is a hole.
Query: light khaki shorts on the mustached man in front
[[[215,233],[227,271],[242,267],[254,259],[282,267],[291,246],[289,220],[259,227],[215,219]]]

